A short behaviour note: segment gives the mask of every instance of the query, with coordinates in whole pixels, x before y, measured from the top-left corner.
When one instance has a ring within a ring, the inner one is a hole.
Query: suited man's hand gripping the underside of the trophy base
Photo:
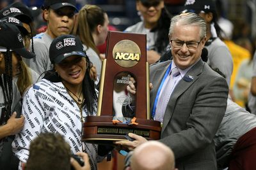
[[[148,141],[147,139],[137,134],[129,133],[128,135],[129,137],[133,138],[134,141],[116,141],[115,142],[116,145],[120,145],[120,148],[122,150],[124,150],[123,147],[127,148],[128,150],[134,150],[134,148],[136,148],[137,146]]]

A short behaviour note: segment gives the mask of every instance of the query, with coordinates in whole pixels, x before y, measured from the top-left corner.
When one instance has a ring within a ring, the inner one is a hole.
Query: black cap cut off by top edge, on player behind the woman
[[[50,7],[52,10],[58,10],[64,6],[71,6],[77,11],[76,0],[45,0],[42,9]]]

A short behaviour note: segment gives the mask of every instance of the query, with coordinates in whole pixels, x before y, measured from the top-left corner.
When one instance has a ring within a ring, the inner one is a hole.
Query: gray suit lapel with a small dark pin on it
[[[186,75],[182,78],[182,80],[180,80],[179,83],[176,85],[175,89],[172,92],[170,100],[168,102],[166,111],[164,113],[162,133],[163,133],[164,129],[166,128],[166,126],[168,125],[168,122],[172,118],[173,111],[174,111],[178,97],[180,95],[182,95],[193,83],[195,83],[195,81],[198,79],[199,74],[202,73],[204,64],[205,63],[202,60],[199,60],[195,64],[195,66],[193,66],[193,67],[191,67],[191,69],[189,69],[188,73],[186,73]],[[193,78],[190,78],[191,76],[193,76]],[[193,89],[191,89],[191,90],[193,90]],[[182,110],[180,110],[180,111],[182,111]]]

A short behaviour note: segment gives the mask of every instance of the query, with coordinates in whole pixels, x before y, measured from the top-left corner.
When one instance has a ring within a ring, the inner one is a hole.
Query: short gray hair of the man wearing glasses
[[[200,39],[206,36],[206,23],[204,18],[200,17],[196,13],[181,13],[180,15],[175,15],[171,20],[171,25],[169,29],[169,36],[172,36],[174,26],[177,22],[182,25],[195,25],[200,27]]]

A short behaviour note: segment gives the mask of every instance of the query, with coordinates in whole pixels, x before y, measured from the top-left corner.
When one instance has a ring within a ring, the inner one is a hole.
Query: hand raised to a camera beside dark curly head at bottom
[[[79,163],[74,158],[71,157],[70,158],[70,164],[74,167],[74,169],[76,169],[76,170],[90,170],[91,167],[90,167],[89,157],[88,157],[87,153],[77,152],[76,155],[83,158],[84,166],[81,167],[79,165]]]

